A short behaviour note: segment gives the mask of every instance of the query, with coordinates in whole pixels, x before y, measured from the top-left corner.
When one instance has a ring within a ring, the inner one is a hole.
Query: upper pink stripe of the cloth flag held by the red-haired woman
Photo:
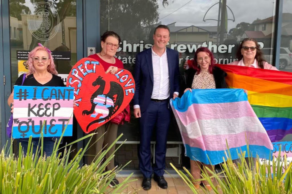
[[[248,101],[215,103],[215,104],[192,104],[185,112],[176,110],[177,116],[183,125],[197,120],[231,119],[240,117],[256,117]],[[222,110],[225,111],[222,114]],[[240,110],[240,111],[239,111]]]

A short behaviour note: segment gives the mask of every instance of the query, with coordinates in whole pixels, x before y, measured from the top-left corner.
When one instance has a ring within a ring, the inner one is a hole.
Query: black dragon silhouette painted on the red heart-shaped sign
[[[103,93],[104,87],[105,87],[105,81],[103,80],[101,76],[98,76],[97,79],[92,83],[92,86],[97,86],[97,85],[99,85],[98,89],[90,97],[91,109],[83,110],[82,115],[85,115],[85,114],[89,115],[94,112],[96,103],[94,103],[93,100],[98,95],[105,95],[105,99],[107,97],[112,99],[113,106],[108,107],[109,112],[107,116],[100,119],[96,119],[92,121],[91,123],[89,123],[86,127],[87,132],[88,132],[89,127],[92,124],[108,120],[120,108],[121,103],[123,101],[123,90],[122,90],[122,87],[118,83],[111,81],[110,88],[107,94]],[[104,105],[106,105],[106,100],[104,101]]]

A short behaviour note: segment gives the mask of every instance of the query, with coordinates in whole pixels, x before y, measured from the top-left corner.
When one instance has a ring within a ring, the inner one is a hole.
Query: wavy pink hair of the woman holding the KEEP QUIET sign
[[[28,73],[27,73],[27,75],[33,74],[35,72],[35,68],[33,66],[32,57],[34,57],[35,52],[38,51],[38,50],[44,50],[47,53],[48,58],[50,59],[50,63],[47,66],[47,71],[49,73],[51,73],[51,74],[57,75],[58,72],[57,72],[57,70],[55,68],[55,65],[54,65],[53,58],[52,58],[51,54],[48,53],[47,50],[44,47],[42,47],[42,46],[36,46],[35,48],[33,48],[29,52],[29,54],[28,54],[28,60],[26,61],[26,63],[28,64]]]

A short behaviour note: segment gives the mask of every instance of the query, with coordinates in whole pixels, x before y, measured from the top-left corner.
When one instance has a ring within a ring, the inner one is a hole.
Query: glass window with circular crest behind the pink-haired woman
[[[76,63],[76,0],[9,0],[9,14],[12,85],[27,71],[27,54],[37,43],[52,51],[65,81]]]

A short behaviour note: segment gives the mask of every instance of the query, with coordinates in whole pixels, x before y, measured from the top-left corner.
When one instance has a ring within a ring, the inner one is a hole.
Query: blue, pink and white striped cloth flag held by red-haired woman
[[[272,144],[242,89],[194,89],[170,101],[185,154],[216,165],[238,153],[269,159]]]

